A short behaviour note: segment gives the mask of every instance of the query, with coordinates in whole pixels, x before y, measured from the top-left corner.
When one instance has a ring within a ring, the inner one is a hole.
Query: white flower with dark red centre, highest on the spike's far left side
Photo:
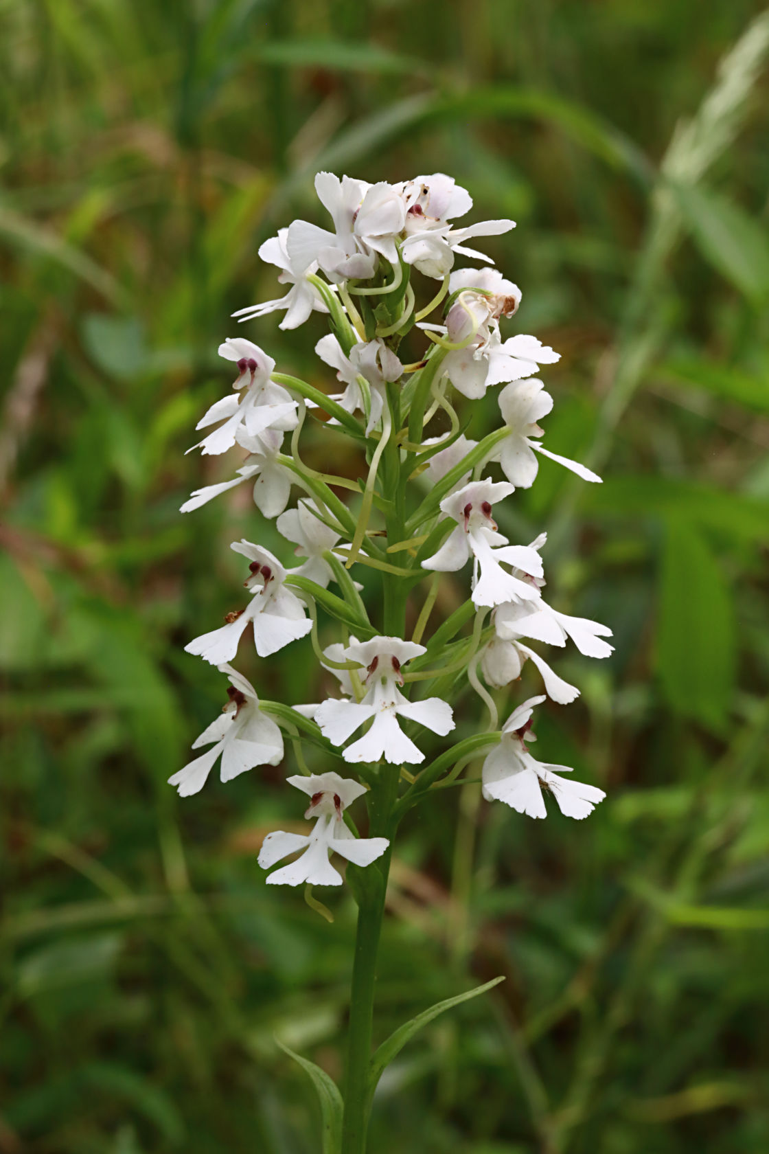
[[[238,379],[233,389],[238,394],[244,388],[246,392],[241,396],[228,395],[211,405],[195,427],[203,429],[217,421],[224,424],[188,449],[188,452],[193,449],[214,455],[226,452],[235,444],[241,429],[250,436],[258,436],[269,428],[286,430],[296,427],[297,403],[270,380],[276,367],[272,357],[267,357],[258,345],[243,337],[229,337],[225,340],[219,345],[219,355],[238,364]]]

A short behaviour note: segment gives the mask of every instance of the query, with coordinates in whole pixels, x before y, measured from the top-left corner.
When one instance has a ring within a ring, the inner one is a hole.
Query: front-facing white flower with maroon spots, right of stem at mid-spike
[[[504,561],[530,577],[542,576],[542,560],[536,549],[508,545],[491,516],[493,503],[512,492],[513,486],[505,481],[473,481],[440,502],[442,511],[457,522],[457,529],[433,556],[422,562],[422,568],[452,572],[473,556],[475,605],[493,606],[540,597],[535,584],[505,572],[500,564]]]

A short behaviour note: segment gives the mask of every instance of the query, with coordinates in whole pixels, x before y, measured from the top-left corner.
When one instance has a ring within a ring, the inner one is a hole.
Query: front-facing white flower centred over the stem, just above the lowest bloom
[[[365,695],[362,702],[323,702],[315,714],[325,737],[334,745],[342,745],[356,729],[369,720],[374,725],[367,734],[344,751],[346,762],[386,762],[415,764],[424,754],[407,737],[398,725],[398,717],[408,718],[444,736],[454,728],[452,709],[438,697],[409,702],[399,692],[402,685],[401,665],[427,652],[423,645],[398,637],[372,637],[342,650],[344,660],[360,661],[365,667],[362,676]]]

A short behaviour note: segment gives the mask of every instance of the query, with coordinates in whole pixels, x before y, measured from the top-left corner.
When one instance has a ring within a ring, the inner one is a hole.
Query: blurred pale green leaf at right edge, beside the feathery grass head
[[[701,185],[673,185],[676,201],[703,257],[755,301],[769,297],[769,237],[738,204]]]

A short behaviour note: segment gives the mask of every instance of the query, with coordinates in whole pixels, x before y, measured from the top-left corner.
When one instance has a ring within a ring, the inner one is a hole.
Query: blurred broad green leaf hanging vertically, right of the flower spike
[[[734,684],[732,599],[704,538],[678,517],[664,538],[656,664],[677,712],[723,726]]]

